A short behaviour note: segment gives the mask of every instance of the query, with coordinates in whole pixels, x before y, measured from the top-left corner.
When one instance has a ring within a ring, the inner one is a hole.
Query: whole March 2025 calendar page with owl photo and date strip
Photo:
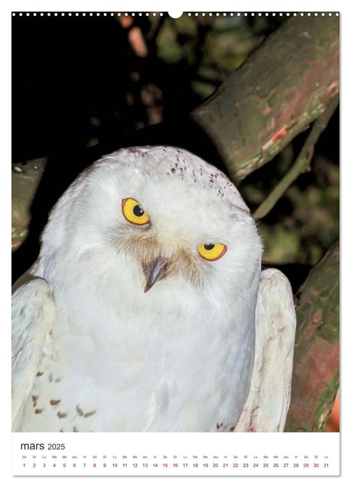
[[[13,477],[340,475],[338,11],[60,5],[8,14]]]

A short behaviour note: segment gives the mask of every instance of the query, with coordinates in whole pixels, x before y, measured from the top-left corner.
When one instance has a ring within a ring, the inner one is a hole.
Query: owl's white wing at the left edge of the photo
[[[21,421],[42,356],[53,358],[50,331],[55,319],[54,299],[46,280],[35,278],[16,289],[12,298],[13,431]]]

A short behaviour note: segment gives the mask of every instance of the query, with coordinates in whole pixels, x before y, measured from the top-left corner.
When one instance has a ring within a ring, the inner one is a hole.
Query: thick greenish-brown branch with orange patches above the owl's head
[[[338,93],[338,17],[294,17],[192,112],[233,179],[270,161]]]

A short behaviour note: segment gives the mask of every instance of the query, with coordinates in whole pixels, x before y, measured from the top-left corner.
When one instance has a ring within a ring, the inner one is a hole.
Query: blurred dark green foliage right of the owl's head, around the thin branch
[[[334,118],[338,118],[338,114]],[[337,120],[331,123],[337,124]],[[331,134],[322,134],[322,137],[328,140]],[[251,209],[258,207],[292,165],[297,157],[294,145],[299,146],[298,141],[244,179],[240,191]],[[299,175],[274,209],[258,222],[265,244],[263,261],[267,264],[296,262],[313,266],[339,236],[338,155],[330,159],[320,152],[322,150],[318,144],[311,171]],[[337,151],[338,145],[335,146]]]

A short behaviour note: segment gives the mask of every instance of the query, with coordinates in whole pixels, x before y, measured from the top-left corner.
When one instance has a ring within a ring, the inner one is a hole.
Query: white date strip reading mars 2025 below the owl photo
[[[339,433],[13,433],[13,475],[338,475]]]

